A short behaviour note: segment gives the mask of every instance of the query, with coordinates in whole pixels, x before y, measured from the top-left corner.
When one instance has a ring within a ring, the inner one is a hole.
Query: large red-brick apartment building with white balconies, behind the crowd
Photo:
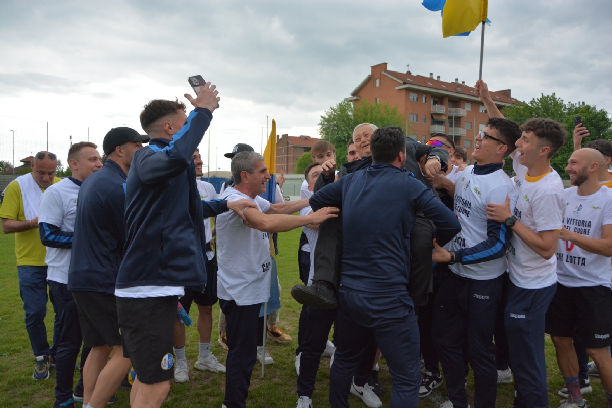
[[[510,89],[491,92],[495,104],[502,110],[516,104]],[[409,137],[426,142],[431,135],[443,133],[468,152],[468,164],[476,134],[485,127],[488,115],[485,105],[465,81],[444,82],[440,77],[412,75],[410,71],[387,70],[387,63],[371,67],[371,74],[345,100],[359,105],[361,100],[386,102],[397,106],[406,118]]]

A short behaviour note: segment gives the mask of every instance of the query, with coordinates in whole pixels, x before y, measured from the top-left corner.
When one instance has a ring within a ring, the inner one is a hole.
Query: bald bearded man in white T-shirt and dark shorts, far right
[[[600,184],[603,155],[579,149],[565,171],[572,186],[565,189],[565,214],[557,247],[558,285],[546,314],[559,369],[567,388],[567,407],[586,407],[578,377],[574,334],[583,339],[586,352],[599,368],[603,388],[612,408],[612,190]]]

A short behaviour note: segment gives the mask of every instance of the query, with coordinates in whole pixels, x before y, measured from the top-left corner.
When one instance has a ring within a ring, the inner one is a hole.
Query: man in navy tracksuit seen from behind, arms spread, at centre
[[[392,372],[390,407],[416,407],[419,330],[407,288],[410,230],[417,212],[435,222],[439,243],[447,243],[461,228],[431,190],[403,170],[406,142],[399,127],[376,130],[371,151],[371,167],[341,178],[310,198],[313,211],[329,205],[341,206],[343,211],[337,350],[329,401],[333,408],[349,407],[348,394],[360,357],[375,339]]]

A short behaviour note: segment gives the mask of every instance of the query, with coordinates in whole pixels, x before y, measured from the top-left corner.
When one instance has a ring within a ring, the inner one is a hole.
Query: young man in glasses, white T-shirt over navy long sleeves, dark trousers
[[[477,162],[457,176],[455,215],[461,232],[444,249],[435,244],[433,262],[452,273],[442,282],[434,302],[432,337],[448,398],[442,407],[468,407],[465,392],[463,344],[474,370],[474,404],[495,406],[498,373],[493,330],[508,268],[506,250],[510,229],[487,219],[487,205],[517,198],[512,179],[503,170],[504,158],[521,135],[518,124],[491,118],[476,137],[472,159]]]

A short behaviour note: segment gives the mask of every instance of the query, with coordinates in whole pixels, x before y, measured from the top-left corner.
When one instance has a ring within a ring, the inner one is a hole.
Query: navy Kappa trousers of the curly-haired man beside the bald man
[[[517,390],[516,408],[548,407],[544,324],[556,289],[556,283],[542,289],[523,289],[512,282],[508,285],[504,324]]]

